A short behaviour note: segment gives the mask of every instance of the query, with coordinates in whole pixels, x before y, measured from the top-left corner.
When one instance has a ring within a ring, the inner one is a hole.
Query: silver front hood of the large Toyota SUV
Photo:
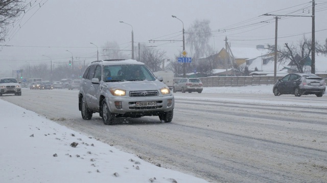
[[[124,89],[126,91],[136,90],[159,90],[165,87],[166,84],[155,81],[124,81],[124,82],[107,82],[109,88]]]

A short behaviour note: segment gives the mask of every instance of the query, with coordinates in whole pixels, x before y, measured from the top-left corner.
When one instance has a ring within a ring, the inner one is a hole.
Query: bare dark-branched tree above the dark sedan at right
[[[274,45],[268,44],[268,49],[271,53],[274,52]],[[315,42],[316,53],[325,54],[325,49],[317,41]],[[284,48],[277,48],[278,61],[282,64],[287,60],[291,60],[291,63],[296,66],[298,72],[303,73],[303,68],[305,67],[306,60],[311,54],[311,40],[308,40],[305,36],[299,41],[298,45],[288,45],[285,43]]]

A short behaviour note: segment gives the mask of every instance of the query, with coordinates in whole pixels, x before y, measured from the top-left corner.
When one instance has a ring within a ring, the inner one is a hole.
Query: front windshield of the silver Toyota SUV
[[[114,81],[154,81],[155,76],[145,65],[111,65],[103,66],[103,80]]]

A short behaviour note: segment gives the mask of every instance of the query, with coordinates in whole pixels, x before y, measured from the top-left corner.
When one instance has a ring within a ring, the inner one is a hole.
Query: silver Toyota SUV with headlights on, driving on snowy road
[[[83,119],[99,112],[105,125],[116,117],[159,116],[173,119],[174,96],[162,77],[136,60],[100,60],[88,65],[80,83],[79,110]]]

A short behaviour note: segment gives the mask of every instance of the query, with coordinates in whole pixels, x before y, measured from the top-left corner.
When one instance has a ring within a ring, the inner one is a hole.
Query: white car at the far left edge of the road
[[[15,78],[0,79],[0,96],[4,94],[15,94],[21,96],[21,85]]]

